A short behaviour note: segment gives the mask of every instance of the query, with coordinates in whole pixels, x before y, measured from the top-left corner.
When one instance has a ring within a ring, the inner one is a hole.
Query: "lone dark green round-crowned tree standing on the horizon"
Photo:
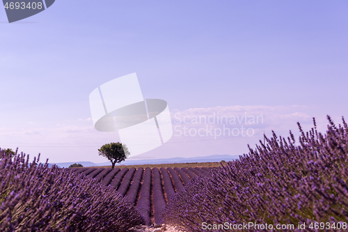
[[[122,162],[130,155],[125,144],[111,143],[103,145],[99,150],[99,155],[102,155],[111,161],[112,168],[116,163]]]

